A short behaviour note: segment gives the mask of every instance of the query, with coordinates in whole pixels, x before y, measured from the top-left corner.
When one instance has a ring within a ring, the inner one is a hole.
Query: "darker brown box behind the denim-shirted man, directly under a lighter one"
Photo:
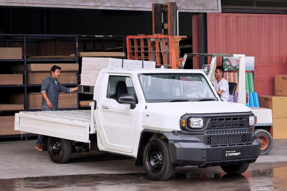
[[[27,72],[27,84],[42,84],[44,78],[50,74],[51,72]],[[77,73],[61,72],[58,80],[61,84],[77,84]]]

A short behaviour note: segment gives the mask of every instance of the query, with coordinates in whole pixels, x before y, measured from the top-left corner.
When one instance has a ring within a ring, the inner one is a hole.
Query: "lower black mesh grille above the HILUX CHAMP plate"
[[[236,144],[248,143],[251,140],[250,131],[223,131],[223,132],[208,132],[207,144]]]

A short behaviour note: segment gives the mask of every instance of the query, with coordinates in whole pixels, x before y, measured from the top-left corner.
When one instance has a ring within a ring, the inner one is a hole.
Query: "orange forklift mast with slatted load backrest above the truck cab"
[[[178,8],[176,3],[152,4],[152,35],[127,36],[127,59],[156,62],[156,67],[179,68]]]

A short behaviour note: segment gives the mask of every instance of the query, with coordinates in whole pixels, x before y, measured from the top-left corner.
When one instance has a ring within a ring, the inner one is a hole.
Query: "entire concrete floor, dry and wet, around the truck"
[[[135,159],[90,151],[72,154],[66,164],[51,162],[35,140],[0,142],[0,191],[286,191],[287,139],[274,140],[243,174],[228,176],[220,167],[177,167],[170,180],[150,180]]]

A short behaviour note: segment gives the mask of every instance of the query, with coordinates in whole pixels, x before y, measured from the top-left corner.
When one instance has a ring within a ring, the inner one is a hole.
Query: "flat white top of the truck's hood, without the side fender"
[[[168,113],[237,113],[249,112],[251,109],[240,103],[224,101],[200,101],[200,102],[170,102],[147,103],[148,111],[160,111]]]

